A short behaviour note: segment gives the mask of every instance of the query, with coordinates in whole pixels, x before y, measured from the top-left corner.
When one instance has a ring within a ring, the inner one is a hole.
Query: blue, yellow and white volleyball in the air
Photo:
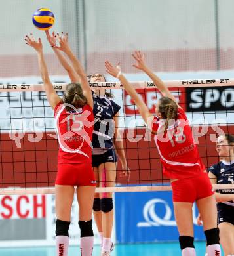
[[[33,14],[33,24],[39,30],[49,30],[54,24],[54,14],[48,8],[40,8]]]

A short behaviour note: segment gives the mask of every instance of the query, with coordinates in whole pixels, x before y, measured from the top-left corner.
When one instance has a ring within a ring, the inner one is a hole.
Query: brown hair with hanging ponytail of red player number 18
[[[178,105],[171,98],[162,97],[159,100],[159,112],[163,119],[165,119],[164,131],[166,131],[169,121],[175,120],[177,117]]]

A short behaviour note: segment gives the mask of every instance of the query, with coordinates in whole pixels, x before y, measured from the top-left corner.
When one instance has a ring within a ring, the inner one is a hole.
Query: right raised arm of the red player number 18
[[[135,51],[135,53],[132,54],[132,57],[136,60],[136,64],[133,64],[132,66],[145,72],[152,79],[153,83],[157,86],[157,89],[159,89],[163,96],[171,98],[174,100],[174,102],[176,102],[176,98],[172,95],[172,93],[170,93],[165,83],[163,83],[163,81],[147,67],[144,60],[145,54],[142,54],[140,51]]]

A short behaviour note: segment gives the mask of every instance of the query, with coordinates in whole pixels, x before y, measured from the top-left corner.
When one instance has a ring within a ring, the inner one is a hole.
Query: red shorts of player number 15
[[[96,186],[92,163],[59,164],[56,185]]]

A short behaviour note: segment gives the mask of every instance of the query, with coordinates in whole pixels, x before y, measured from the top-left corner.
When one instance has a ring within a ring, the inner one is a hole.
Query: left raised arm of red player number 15
[[[61,101],[61,98],[57,95],[54,90],[54,86],[50,81],[50,77],[47,70],[47,64],[45,63],[45,58],[43,54],[43,45],[41,43],[41,38],[36,41],[32,34],[26,35],[26,44],[33,47],[37,52],[37,58],[39,63],[39,69],[41,72],[41,78],[45,87],[45,92],[47,94],[47,100],[50,106],[54,109],[56,105]]]

